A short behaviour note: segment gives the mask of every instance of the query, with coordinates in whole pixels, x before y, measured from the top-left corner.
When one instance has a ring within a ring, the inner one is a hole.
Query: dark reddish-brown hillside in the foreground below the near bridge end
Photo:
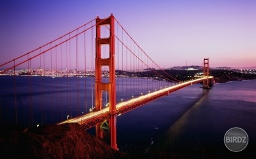
[[[77,123],[18,131],[1,128],[1,158],[122,158]]]

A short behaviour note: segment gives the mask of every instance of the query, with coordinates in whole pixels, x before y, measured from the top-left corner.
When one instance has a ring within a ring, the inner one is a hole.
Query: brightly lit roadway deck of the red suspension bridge
[[[212,79],[212,78],[213,77],[208,77],[208,79]],[[137,107],[140,107],[141,105],[152,102],[153,100],[157,100],[158,98],[161,98],[162,96],[169,95],[170,93],[177,91],[179,89],[182,89],[183,87],[187,87],[192,84],[202,82],[205,79],[207,79],[207,77],[203,77],[203,78],[195,79],[195,80],[189,80],[187,82],[182,82],[175,86],[166,87],[166,88],[160,89],[159,91],[154,91],[152,93],[148,93],[147,95],[141,95],[138,98],[132,98],[131,100],[128,100],[126,102],[118,103],[116,105],[116,110],[115,110],[114,114],[116,114],[116,115],[124,114],[125,112],[129,112],[130,110],[136,109]],[[62,121],[61,123],[58,123],[58,125],[63,124],[63,123],[79,123],[79,125],[84,125],[84,127],[86,129],[88,129],[88,128],[92,128],[93,126],[108,120],[109,117],[110,117],[109,107],[106,107],[97,112],[90,112],[90,113],[84,114],[82,116],[77,116],[72,119]]]

